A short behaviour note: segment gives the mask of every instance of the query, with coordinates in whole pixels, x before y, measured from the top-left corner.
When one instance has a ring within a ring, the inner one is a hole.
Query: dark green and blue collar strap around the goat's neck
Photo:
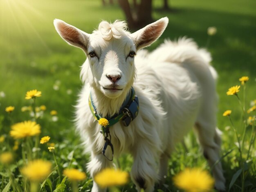
[[[96,120],[102,118],[101,114],[97,113],[97,109],[92,101],[92,94],[89,96],[89,106],[91,112]],[[122,120],[124,126],[130,125],[132,120],[136,118],[139,112],[139,99],[135,95],[135,90],[132,87],[129,94],[126,96],[123,105],[121,106],[119,113],[115,114],[112,117],[107,117],[109,126],[115,125],[118,121]]]

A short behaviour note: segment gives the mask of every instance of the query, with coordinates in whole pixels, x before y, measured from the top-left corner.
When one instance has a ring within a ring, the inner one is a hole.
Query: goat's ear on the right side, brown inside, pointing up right
[[[167,27],[168,21],[168,18],[164,17],[132,33],[137,49],[147,47],[157,40]]]

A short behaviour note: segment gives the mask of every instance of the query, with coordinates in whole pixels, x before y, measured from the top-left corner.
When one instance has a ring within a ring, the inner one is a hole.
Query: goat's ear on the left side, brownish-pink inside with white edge
[[[54,19],[54,27],[58,34],[70,45],[74,45],[86,51],[89,34],[65,23],[62,20]]]

